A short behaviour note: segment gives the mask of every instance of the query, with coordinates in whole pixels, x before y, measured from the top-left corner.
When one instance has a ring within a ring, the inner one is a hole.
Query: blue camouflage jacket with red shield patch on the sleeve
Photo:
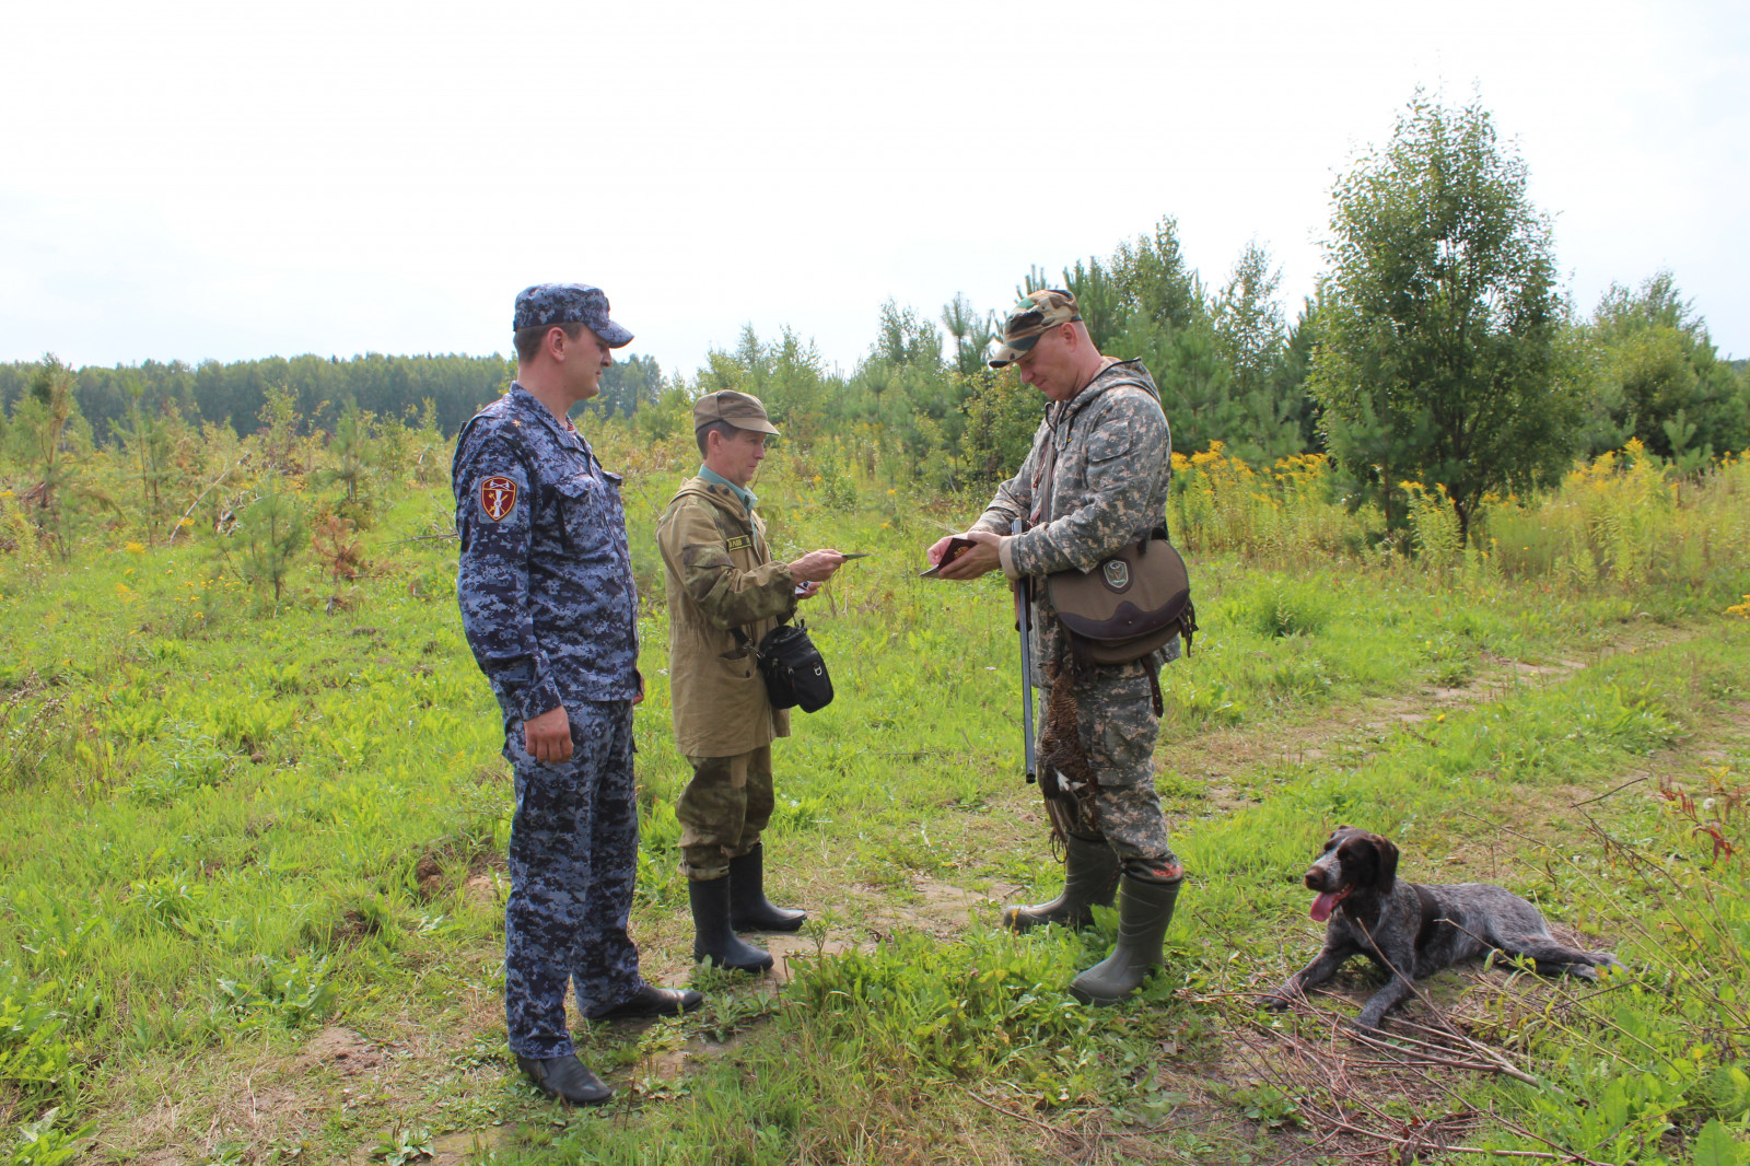
[[[462,630],[508,718],[637,695],[620,474],[522,385],[455,445]]]

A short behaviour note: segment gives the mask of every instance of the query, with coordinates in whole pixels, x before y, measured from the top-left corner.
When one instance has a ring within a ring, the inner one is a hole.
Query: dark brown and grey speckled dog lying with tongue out
[[[1620,966],[1610,952],[1556,942],[1536,907],[1507,888],[1400,881],[1398,847],[1354,826],[1337,826],[1307,870],[1306,884],[1318,891],[1312,919],[1328,921],[1325,949],[1274,993],[1258,998],[1267,1008],[1286,1008],[1358,954],[1391,977],[1354,1019],[1360,1028],[1379,1028],[1386,1012],[1414,991],[1412,979],[1489,951],[1535,959],[1544,975],[1566,972],[1594,980],[1598,972],[1592,968]]]

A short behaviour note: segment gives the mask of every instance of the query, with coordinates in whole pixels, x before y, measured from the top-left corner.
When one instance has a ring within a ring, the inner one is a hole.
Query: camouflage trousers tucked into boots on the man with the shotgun
[[[1094,665],[1071,685],[1076,704],[1076,730],[1083,756],[1099,784],[1094,818],[1080,802],[1071,814],[1071,833],[1085,840],[1104,840],[1122,870],[1132,877],[1158,881],[1178,865],[1167,839],[1167,819],[1155,793],[1155,741],[1160,718],[1155,716],[1153,683],[1158,655],[1136,664]],[[1041,690],[1050,702],[1050,685]]]

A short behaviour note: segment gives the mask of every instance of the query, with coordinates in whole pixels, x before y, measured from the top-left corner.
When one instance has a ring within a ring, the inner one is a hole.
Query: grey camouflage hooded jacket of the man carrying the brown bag
[[[1050,513],[1040,515],[1045,450],[1055,446]],[[1092,571],[1125,543],[1166,522],[1172,434],[1160,390],[1141,361],[1116,361],[1069,401],[1045,411],[1020,473],[998,487],[975,530],[1008,534],[1015,518],[1032,523],[1008,543],[1018,574],[1043,581],[1054,571]],[[1045,587],[1032,588],[1036,651],[1057,658],[1057,613]],[[1180,641],[1160,650],[1176,660]],[[1125,665],[1129,667],[1129,665]]]

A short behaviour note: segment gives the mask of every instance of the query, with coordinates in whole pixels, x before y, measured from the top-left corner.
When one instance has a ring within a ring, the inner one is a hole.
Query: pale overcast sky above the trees
[[[850,368],[1172,215],[1288,315],[1335,173],[1480,95],[1582,310],[1664,266],[1750,355],[1750,4],[0,0],[0,361],[508,352],[598,284],[691,373]]]

